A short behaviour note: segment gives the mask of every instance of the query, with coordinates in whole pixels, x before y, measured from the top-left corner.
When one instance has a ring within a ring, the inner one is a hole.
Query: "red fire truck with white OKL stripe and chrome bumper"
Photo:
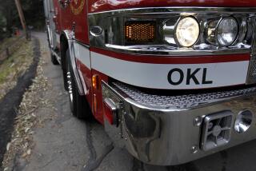
[[[74,116],[178,165],[256,138],[255,0],[45,0]]]

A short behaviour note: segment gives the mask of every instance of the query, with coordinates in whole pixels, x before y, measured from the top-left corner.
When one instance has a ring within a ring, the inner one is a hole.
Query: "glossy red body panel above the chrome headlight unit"
[[[252,7],[256,0],[88,0],[89,13],[156,6]]]

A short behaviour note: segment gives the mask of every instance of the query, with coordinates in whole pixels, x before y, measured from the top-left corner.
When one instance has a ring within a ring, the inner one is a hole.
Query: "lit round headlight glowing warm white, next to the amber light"
[[[177,26],[175,37],[178,44],[184,47],[193,46],[199,37],[199,24],[192,17],[182,18]]]

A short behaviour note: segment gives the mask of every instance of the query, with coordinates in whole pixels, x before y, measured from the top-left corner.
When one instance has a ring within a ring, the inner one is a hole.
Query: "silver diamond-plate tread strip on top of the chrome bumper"
[[[214,101],[222,101],[226,98],[238,97],[248,93],[256,93],[256,87],[247,89],[237,89],[214,93],[186,94],[178,96],[162,96],[142,92],[132,85],[122,82],[114,82],[117,90],[126,93],[128,97],[142,105],[152,106],[162,109],[187,109],[198,105],[207,104]]]

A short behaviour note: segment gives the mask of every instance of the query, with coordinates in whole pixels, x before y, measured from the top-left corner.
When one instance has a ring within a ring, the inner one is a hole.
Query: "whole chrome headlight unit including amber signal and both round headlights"
[[[250,8],[143,8],[89,14],[90,46],[165,56],[249,54],[255,21],[256,9]],[[101,34],[91,32],[95,26],[101,27]]]

